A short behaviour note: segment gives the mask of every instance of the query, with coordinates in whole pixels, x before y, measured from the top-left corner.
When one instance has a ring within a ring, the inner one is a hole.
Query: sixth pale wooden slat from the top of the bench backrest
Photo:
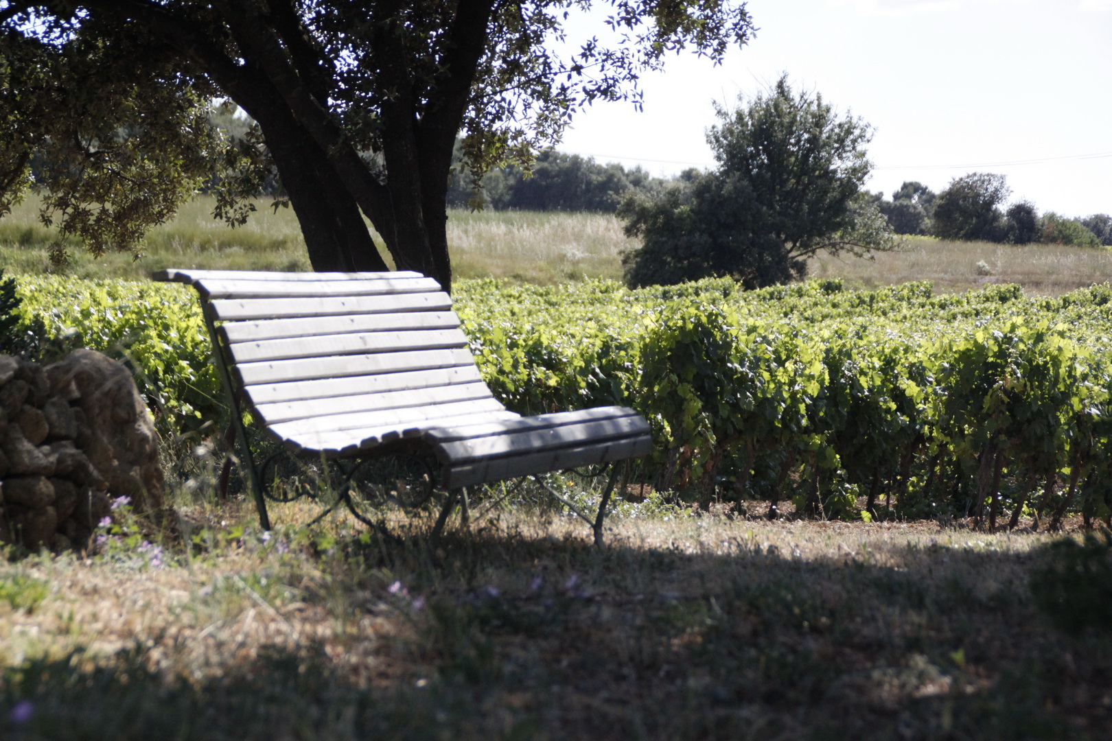
[[[366,356],[338,356],[336,358],[306,358],[299,360],[269,360],[236,366],[236,378],[242,385],[311,381],[345,375],[370,373],[398,373],[474,366],[475,359],[467,348],[454,350],[413,350],[408,352],[379,352]]]

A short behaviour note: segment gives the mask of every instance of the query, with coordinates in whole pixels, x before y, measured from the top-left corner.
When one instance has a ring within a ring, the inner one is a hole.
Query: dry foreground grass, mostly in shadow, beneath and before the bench
[[[1101,739],[1112,640],[1042,534],[495,513],[430,551],[185,511],[165,552],[0,565],[0,738]]]

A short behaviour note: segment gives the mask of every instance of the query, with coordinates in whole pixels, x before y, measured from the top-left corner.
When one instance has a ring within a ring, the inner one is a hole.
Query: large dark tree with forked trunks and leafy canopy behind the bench
[[[606,28],[573,38],[598,6]],[[733,0],[0,0],[0,213],[46,153],[47,218],[133,249],[221,162],[218,213],[241,222],[277,174],[315,269],[386,268],[366,217],[447,288],[457,137],[473,172],[528,162],[669,53],[721,61],[753,30]],[[215,136],[220,97],[250,136]]]

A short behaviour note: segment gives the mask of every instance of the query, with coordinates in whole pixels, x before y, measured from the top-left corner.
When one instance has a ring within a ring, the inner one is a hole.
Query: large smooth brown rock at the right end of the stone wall
[[[113,471],[120,467],[139,482],[133,493],[119,492],[131,497],[136,511],[161,509],[162,468],[155,421],[127,368],[99,352],[77,350],[51,366],[48,373],[57,378],[69,373],[77,384],[81,395],[76,408],[82,413],[75,420],[76,441],[89,462],[108,480],[109,489]],[[88,440],[82,440],[82,421],[89,429]],[[117,478],[122,485],[131,483],[118,474]]]

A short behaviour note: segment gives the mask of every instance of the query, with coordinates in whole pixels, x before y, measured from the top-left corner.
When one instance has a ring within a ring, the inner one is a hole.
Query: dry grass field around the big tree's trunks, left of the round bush
[[[0,263],[9,274],[49,271],[54,230],[38,221],[29,198],[0,220]],[[67,272],[79,278],[145,278],[163,268],[309,270],[292,210],[258,203],[246,226],[229,229],[211,218],[209,198],[187,203],[171,223],[151,230],[136,262],[110,252],[93,260],[72,244]],[[522,282],[622,277],[620,252],[632,246],[618,221],[597,213],[449,211],[448,244],[460,278],[496,277]]]

